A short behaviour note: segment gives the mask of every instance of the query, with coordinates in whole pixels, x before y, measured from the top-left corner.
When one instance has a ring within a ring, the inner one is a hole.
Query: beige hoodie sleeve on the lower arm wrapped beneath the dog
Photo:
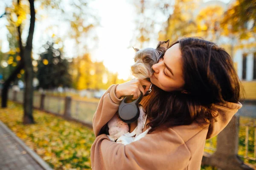
[[[109,141],[102,134],[91,147],[93,170],[183,170],[190,158],[188,147],[171,128],[128,145]]]

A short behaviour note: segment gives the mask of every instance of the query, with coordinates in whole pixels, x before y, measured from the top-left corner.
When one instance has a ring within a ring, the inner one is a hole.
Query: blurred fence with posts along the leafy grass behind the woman
[[[13,101],[23,103],[23,92],[10,90],[8,97]],[[98,103],[73,100],[69,96],[59,97],[35,93],[33,105],[37,109],[92,127],[93,114]],[[241,136],[239,136],[239,130],[244,132]],[[242,150],[243,153],[238,155],[238,150]],[[237,161],[236,157],[256,161],[256,121],[239,125],[239,116],[235,115],[217,137],[206,141],[205,151],[203,165],[219,167],[218,170],[226,169],[227,164],[229,167],[233,166],[234,170],[247,169],[241,168],[241,162]],[[219,160],[222,160],[223,163]]]

